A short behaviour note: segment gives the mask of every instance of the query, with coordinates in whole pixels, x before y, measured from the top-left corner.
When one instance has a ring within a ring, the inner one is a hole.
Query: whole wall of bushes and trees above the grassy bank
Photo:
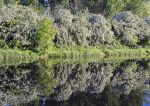
[[[64,56],[150,46],[148,1],[3,0],[0,8],[2,49]]]

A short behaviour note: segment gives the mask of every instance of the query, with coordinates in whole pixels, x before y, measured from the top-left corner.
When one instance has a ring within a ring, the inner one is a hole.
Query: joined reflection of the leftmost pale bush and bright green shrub
[[[35,100],[38,95],[50,94],[54,78],[48,69],[45,63],[0,67],[0,106],[17,106]]]

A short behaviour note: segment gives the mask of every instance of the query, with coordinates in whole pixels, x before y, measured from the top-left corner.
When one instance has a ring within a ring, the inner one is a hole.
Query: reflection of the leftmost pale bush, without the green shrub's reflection
[[[33,68],[37,69],[33,64],[0,68],[0,94],[2,95],[0,103],[7,100],[16,105],[16,103],[35,99],[34,95],[37,94],[36,74],[38,73]]]

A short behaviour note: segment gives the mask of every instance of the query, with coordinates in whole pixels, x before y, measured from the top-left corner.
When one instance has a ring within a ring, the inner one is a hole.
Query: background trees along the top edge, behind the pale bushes
[[[112,16],[122,11],[133,11],[139,15],[146,15],[149,11],[148,8],[146,8],[145,1],[148,0],[4,0],[4,3],[37,7],[49,5],[51,8],[62,5],[74,11],[88,7],[93,13],[97,10],[106,16]]]

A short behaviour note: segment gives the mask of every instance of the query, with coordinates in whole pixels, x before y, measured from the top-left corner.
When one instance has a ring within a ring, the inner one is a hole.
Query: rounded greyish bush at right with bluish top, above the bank
[[[132,12],[116,14],[112,20],[112,27],[115,35],[126,46],[144,45],[143,43],[150,38],[150,26]]]

